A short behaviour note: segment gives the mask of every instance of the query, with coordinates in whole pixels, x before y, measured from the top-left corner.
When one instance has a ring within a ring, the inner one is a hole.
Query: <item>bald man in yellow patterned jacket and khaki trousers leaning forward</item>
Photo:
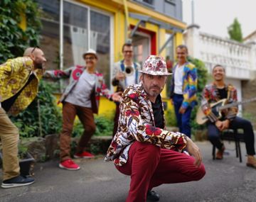
[[[9,116],[18,115],[35,99],[43,75],[46,57],[39,47],[28,47],[23,57],[0,65],[0,138],[3,146],[3,182],[11,188],[32,184],[34,179],[21,176],[18,165],[18,128]]]

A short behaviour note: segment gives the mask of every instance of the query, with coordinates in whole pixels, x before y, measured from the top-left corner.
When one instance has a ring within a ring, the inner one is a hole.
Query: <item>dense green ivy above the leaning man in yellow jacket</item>
[[[0,1],[0,64],[22,56],[26,47],[38,45],[40,13],[33,0]],[[20,27],[21,16],[26,18],[25,30]]]

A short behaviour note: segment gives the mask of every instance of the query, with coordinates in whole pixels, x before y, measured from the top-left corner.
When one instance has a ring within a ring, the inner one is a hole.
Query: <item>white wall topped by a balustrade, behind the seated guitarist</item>
[[[215,64],[225,67],[226,82],[235,85],[238,89],[238,101],[256,96],[256,91],[249,87],[250,84],[255,83],[256,78],[255,43],[249,40],[238,43],[234,40],[203,33],[197,25],[188,26],[186,32],[183,33],[183,39],[188,46],[189,55],[202,60],[206,64],[209,74]],[[209,79],[208,82],[212,81]],[[255,93],[252,94],[252,92]],[[255,108],[256,104],[250,103],[243,108],[248,109],[248,106]],[[239,108],[241,111],[242,106]],[[252,111],[250,110],[250,112]]]

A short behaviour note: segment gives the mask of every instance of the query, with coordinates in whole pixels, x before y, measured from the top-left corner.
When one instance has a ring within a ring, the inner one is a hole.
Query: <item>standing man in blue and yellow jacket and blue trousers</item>
[[[194,64],[187,61],[186,45],[178,45],[176,55],[178,63],[173,69],[171,102],[174,103],[179,132],[191,137],[191,112],[197,104],[197,70]]]

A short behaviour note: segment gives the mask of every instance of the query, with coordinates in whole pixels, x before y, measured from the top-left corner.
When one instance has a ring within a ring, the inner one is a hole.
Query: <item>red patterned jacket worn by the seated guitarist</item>
[[[228,91],[228,97],[227,97],[228,103],[232,103],[233,101],[238,101],[238,93],[233,85],[225,84],[225,89],[226,91]],[[205,88],[203,89],[202,97],[203,97],[203,100],[201,101],[201,108],[203,110],[203,113],[206,114],[210,122],[214,123],[216,120],[218,120],[218,118],[211,111],[210,103],[216,103],[220,101],[220,94],[218,93],[217,86],[215,85],[214,82],[213,84],[208,84],[205,86]],[[238,107],[236,106],[232,108],[228,108],[227,111],[223,112],[224,118],[229,120],[233,120],[233,118],[235,118],[237,113],[238,113]]]

